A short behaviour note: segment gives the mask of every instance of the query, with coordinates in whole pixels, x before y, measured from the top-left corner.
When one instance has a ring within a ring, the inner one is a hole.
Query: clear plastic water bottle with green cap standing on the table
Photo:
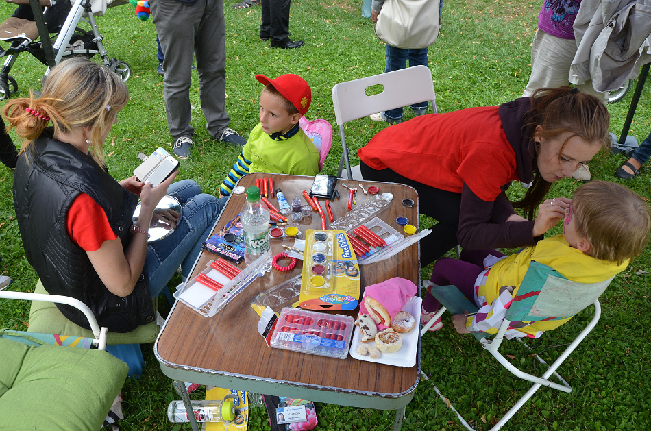
[[[260,188],[247,188],[247,203],[240,211],[244,231],[244,261],[251,264],[269,250],[269,210],[260,201]]]

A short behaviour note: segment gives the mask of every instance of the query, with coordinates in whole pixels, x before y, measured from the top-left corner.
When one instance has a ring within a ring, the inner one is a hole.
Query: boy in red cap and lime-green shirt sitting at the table
[[[260,124],[256,125],[230,173],[219,188],[228,196],[247,173],[268,172],[292,175],[319,173],[319,150],[298,122],[312,101],[309,84],[298,75],[269,79],[257,75],[265,85],[260,95]]]

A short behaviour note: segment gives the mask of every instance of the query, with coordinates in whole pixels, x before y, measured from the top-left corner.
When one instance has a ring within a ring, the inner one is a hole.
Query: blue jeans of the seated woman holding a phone
[[[151,297],[157,297],[177,268],[184,277],[199,256],[201,243],[206,241],[217,222],[228,197],[217,199],[201,193],[192,180],[182,180],[169,186],[167,194],[175,197],[183,208],[176,230],[167,238],[149,244],[145,271],[149,280]]]

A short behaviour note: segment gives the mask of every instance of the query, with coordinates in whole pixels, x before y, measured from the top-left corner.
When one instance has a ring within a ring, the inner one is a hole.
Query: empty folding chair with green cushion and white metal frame
[[[0,291],[0,298],[69,304],[93,336],[0,330],[0,430],[99,430],[129,367],[106,348],[90,308],[77,299]]]

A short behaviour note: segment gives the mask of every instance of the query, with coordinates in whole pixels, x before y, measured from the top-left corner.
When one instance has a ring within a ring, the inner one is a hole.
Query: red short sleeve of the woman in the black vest
[[[66,229],[71,241],[85,251],[97,251],[104,241],[118,238],[104,210],[86,193],[79,194],[71,204]]]

